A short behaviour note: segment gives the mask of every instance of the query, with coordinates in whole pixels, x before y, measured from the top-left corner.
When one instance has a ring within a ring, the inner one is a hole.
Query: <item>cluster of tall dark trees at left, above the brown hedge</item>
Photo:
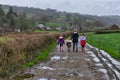
[[[26,18],[26,14],[18,15],[13,11],[10,6],[7,13],[2,9],[0,5],[0,30],[1,31],[14,31],[20,29],[20,31],[25,31],[30,26],[28,25],[30,20]]]

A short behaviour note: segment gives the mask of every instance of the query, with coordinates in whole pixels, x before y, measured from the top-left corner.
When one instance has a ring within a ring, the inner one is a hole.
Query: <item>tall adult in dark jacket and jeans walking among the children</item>
[[[78,38],[79,34],[77,33],[77,30],[74,30],[71,36],[71,40],[73,42],[73,51],[78,52]]]

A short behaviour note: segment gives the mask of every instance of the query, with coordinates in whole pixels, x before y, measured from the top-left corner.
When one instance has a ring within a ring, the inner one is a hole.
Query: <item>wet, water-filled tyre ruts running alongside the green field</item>
[[[115,64],[116,62],[113,61],[107,53],[105,53],[102,50],[99,50],[97,48],[91,48],[90,45],[87,46],[92,52],[95,53],[95,55],[98,57],[98,59],[102,62],[104,67],[106,68],[109,78],[111,80],[120,80],[120,62],[118,64]],[[115,63],[114,63],[115,62]]]

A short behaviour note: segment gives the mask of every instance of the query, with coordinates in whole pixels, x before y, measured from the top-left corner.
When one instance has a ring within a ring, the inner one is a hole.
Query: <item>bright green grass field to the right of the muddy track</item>
[[[87,36],[87,42],[105,50],[114,58],[120,58],[120,33],[91,34]]]

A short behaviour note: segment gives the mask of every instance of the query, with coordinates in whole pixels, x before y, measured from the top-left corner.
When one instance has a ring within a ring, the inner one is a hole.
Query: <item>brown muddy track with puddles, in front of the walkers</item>
[[[59,51],[57,45],[50,53],[48,60],[38,63],[32,68],[23,71],[15,80],[110,80],[104,66],[94,61],[90,50],[86,53]],[[25,76],[30,75],[30,76]]]

